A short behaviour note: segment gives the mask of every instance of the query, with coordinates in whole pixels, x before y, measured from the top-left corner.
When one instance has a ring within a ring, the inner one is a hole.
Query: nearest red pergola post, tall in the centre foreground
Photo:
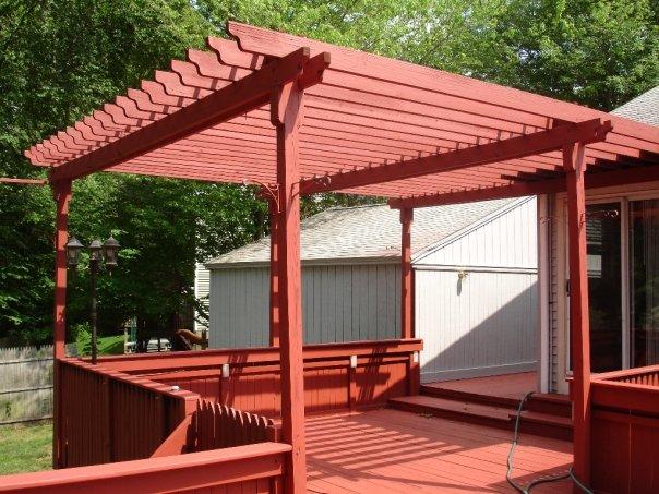
[[[271,120],[277,133],[279,208],[275,215],[279,278],[279,348],[281,361],[281,439],[292,446],[284,477],[284,492],[307,491],[304,441],[304,362],[302,357],[302,290],[300,268],[299,130],[303,91],[298,82],[274,91]]]

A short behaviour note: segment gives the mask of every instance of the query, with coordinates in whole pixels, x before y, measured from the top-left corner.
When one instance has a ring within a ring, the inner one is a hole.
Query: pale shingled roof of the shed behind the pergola
[[[417,209],[412,255],[519,200],[498,200]],[[387,205],[335,207],[301,224],[302,261],[400,256],[399,212]],[[207,267],[269,262],[269,237],[206,263]]]

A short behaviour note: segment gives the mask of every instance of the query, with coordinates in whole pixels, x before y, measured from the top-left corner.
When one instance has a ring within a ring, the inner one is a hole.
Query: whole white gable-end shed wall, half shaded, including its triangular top
[[[536,198],[522,198],[415,261],[424,382],[536,369]]]

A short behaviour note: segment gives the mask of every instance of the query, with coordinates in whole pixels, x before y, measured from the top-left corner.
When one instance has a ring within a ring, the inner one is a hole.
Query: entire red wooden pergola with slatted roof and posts
[[[403,222],[403,338],[412,336],[415,207],[566,191],[576,474],[589,480],[585,188],[659,179],[659,131],[508,87],[253,26],[31,147],[57,193],[56,358],[64,354],[71,182],[113,171],[264,185],[273,224],[287,492],[305,483],[300,195],[385,196]],[[56,386],[58,383],[56,383]],[[56,421],[57,421],[56,407]]]

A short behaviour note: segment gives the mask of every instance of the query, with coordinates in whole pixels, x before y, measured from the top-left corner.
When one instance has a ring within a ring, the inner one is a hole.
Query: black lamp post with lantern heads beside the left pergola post
[[[96,364],[98,357],[98,316],[96,311],[96,279],[98,278],[98,268],[103,261],[108,269],[117,266],[117,254],[119,252],[119,242],[110,236],[104,243],[100,240],[93,240],[89,244],[89,273],[92,284],[92,305],[89,320],[92,323],[92,363]],[[67,242],[67,261],[69,267],[77,267],[80,262],[80,253],[83,250],[83,244],[72,237]]]

